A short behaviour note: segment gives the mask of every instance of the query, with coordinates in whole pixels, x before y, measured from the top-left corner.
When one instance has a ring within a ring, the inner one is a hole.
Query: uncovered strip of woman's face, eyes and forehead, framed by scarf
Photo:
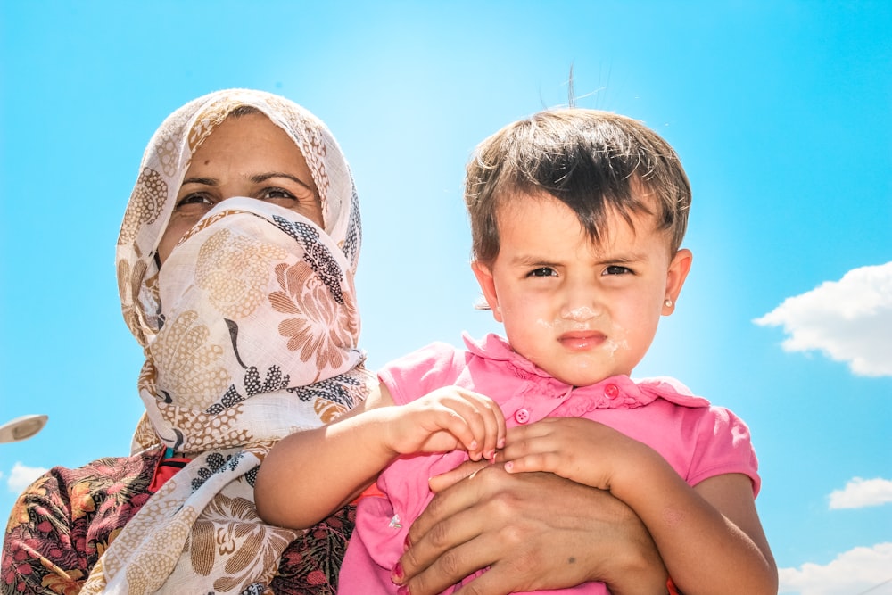
[[[260,113],[229,117],[192,155],[158,244],[161,263],[214,205],[233,196],[273,202],[325,227],[310,168],[285,130]]]

